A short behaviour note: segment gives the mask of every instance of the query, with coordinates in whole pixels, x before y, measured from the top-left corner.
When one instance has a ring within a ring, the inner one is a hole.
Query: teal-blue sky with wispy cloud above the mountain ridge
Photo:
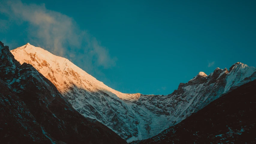
[[[1,1],[0,41],[30,43],[124,93],[170,94],[198,72],[256,67],[256,1]]]

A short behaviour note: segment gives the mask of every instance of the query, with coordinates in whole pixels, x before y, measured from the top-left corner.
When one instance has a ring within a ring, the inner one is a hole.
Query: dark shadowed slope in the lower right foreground
[[[256,143],[256,80],[213,101],[143,143]]]

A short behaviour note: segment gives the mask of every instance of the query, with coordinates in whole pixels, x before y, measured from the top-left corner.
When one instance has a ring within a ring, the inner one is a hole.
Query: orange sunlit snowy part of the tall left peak
[[[77,88],[87,91],[103,91],[129,101],[137,100],[141,94],[124,94],[116,91],[103,82],[98,81],[66,58],[53,55],[45,49],[27,43],[24,46],[11,50],[14,57],[20,61],[32,64],[40,73],[53,82],[61,92],[69,92],[76,85]],[[57,82],[58,81],[58,82]],[[70,94],[71,95],[71,94]]]

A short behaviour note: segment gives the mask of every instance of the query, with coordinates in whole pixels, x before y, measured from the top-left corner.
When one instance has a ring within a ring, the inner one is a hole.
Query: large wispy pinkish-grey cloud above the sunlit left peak
[[[28,23],[26,31],[30,44],[76,61],[78,65],[86,65],[85,69],[93,69],[95,65],[104,68],[115,66],[116,58],[112,58],[95,37],[81,30],[71,17],[49,10],[44,4],[21,1],[0,1],[0,4],[0,13],[5,14],[9,22]]]

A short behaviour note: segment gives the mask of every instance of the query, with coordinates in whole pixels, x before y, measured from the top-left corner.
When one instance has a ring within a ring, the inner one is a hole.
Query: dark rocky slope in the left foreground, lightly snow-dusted
[[[85,118],[31,64],[0,42],[0,143],[126,143]]]

